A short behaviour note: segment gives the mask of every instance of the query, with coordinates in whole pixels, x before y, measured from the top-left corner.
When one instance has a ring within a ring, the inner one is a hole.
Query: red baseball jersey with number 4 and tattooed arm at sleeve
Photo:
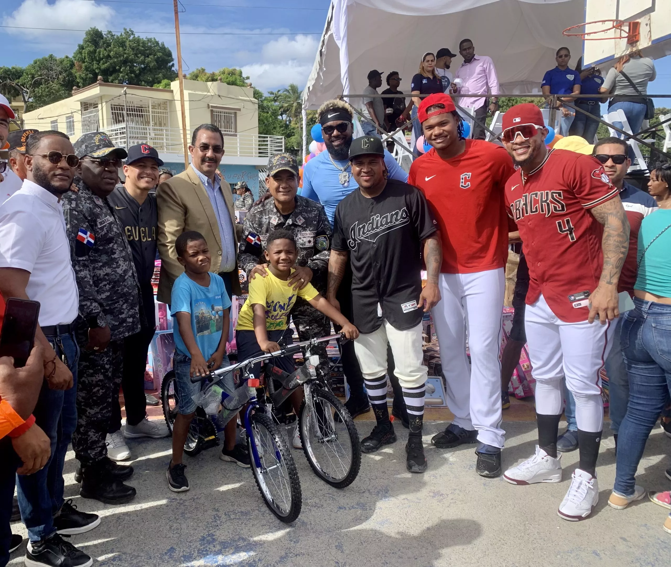
[[[508,180],[506,203],[529,265],[527,305],[543,294],[562,321],[587,320],[603,268],[603,226],[589,210],[617,193],[597,159],[568,150],[549,150],[529,175],[518,169]]]

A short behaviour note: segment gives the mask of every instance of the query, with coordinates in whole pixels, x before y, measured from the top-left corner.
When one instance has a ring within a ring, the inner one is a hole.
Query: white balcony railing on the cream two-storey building
[[[191,132],[188,132],[191,142]],[[179,128],[161,128],[160,126],[136,126],[115,124],[107,128],[107,135],[121,148],[135,144],[150,144],[159,152],[181,154],[183,152],[182,131]],[[262,134],[224,135],[224,150],[228,157],[270,157],[285,150],[284,136],[264,136]]]

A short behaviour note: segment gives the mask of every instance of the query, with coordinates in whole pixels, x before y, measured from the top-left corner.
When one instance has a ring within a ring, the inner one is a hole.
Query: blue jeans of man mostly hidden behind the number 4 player
[[[617,433],[620,424],[627,413],[627,403],[629,402],[629,378],[627,369],[622,359],[622,349],[620,347],[620,333],[622,331],[622,316],[617,320],[617,328],[613,334],[613,346],[605,362],[606,374],[608,376],[609,408],[608,415],[611,418],[611,431]],[[576,402],[573,394],[568,391],[564,384],[564,399],[566,407],[567,429],[578,431],[576,423]],[[618,439],[619,441],[619,439]]]

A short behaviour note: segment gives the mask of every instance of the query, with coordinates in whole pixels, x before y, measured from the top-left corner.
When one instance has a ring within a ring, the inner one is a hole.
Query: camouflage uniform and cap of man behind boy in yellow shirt
[[[287,156],[287,154],[278,154],[270,160],[272,161],[278,156]],[[295,158],[291,158],[295,163]],[[272,169],[270,164],[268,169],[269,171]],[[297,165],[296,169],[298,169]],[[331,224],[329,224],[321,204],[300,195],[296,195],[296,208],[286,220],[278,212],[272,198],[248,211],[242,228],[240,251],[238,253],[238,265],[240,269],[246,272],[247,279],[249,280],[250,271],[256,265],[266,263],[263,251],[268,240],[268,234],[278,228],[288,230],[294,235],[298,249],[296,265],[307,266],[312,270],[313,276],[310,283],[317,288],[319,293],[325,295],[329,255],[331,253]],[[257,236],[258,238],[256,238]],[[329,318],[317,311],[303,298],[297,298],[291,310],[291,318],[301,341],[331,334]],[[329,369],[326,347],[319,345],[314,350],[320,359],[317,370],[321,376],[324,376]]]

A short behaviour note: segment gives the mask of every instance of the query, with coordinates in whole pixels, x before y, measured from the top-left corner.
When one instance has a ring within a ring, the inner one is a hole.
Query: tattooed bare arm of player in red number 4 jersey
[[[598,316],[599,322],[605,324],[620,314],[617,308],[617,281],[629,250],[629,221],[619,196],[596,206],[591,212],[603,224],[603,269],[599,286],[590,297],[588,321],[591,323]]]

